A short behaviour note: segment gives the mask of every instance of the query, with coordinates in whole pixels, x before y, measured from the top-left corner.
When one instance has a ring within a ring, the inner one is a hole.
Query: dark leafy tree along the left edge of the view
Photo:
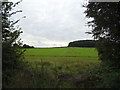
[[[21,68],[23,52],[20,49],[21,28],[15,24],[19,21],[11,20],[11,16],[21,11],[12,11],[20,2],[2,2],[0,13],[2,14],[2,85],[7,87],[12,81],[16,71]]]

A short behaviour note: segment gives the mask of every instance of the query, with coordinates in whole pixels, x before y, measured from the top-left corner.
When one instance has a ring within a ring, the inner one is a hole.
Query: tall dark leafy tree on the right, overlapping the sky
[[[92,26],[95,39],[98,39],[99,58],[110,66],[120,68],[120,3],[90,2],[85,6],[86,17],[93,18],[88,22]]]

